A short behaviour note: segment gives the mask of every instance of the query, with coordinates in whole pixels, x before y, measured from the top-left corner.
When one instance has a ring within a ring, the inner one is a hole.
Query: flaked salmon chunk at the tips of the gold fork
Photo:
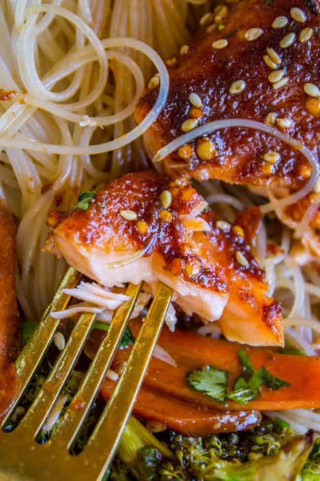
[[[219,319],[227,338],[282,345],[280,306],[266,296],[264,272],[236,232],[188,182],[143,171],[111,182],[86,211],[67,215],[45,250],[105,286],[162,281],[188,314]]]

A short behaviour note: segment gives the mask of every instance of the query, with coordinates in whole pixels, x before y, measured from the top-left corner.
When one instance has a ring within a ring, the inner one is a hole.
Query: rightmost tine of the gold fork
[[[128,417],[131,414],[136,395],[148,368],[156,345],[165,314],[169,307],[172,289],[160,284],[147,317],[134,343],[125,370],[105,407],[94,432],[79,457],[94,459],[96,478],[101,480],[109,467]]]

